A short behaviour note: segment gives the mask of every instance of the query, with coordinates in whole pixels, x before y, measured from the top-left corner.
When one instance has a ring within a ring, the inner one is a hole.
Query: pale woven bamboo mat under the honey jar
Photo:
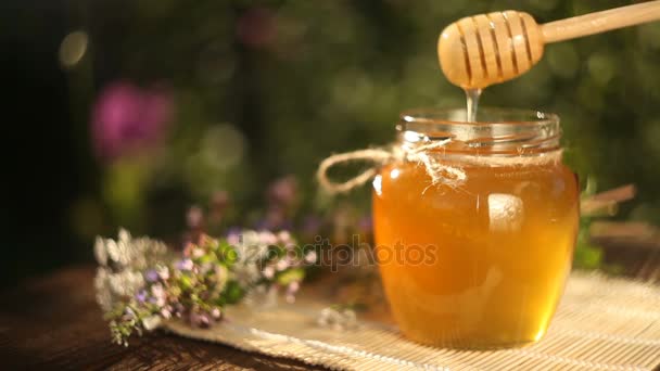
[[[179,322],[182,336],[246,351],[351,370],[653,370],[660,366],[660,287],[573,273],[546,336],[505,350],[453,350],[411,343],[396,328],[359,321],[354,330],[316,324],[328,303],[299,297],[269,310],[239,306],[210,330]]]

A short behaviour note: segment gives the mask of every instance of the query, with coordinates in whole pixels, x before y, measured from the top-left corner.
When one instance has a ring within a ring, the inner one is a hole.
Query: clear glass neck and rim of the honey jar
[[[439,141],[434,152],[478,156],[535,156],[560,149],[559,117],[536,111],[483,108],[467,123],[465,110],[417,110],[401,115],[398,142],[415,149]]]

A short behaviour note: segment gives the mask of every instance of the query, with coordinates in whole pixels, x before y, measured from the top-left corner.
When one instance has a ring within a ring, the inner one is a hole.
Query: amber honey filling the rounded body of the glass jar
[[[579,189],[562,164],[462,165],[430,187],[401,162],[373,182],[377,257],[393,316],[417,342],[515,346],[545,333],[571,268]],[[421,257],[420,257],[421,256]]]

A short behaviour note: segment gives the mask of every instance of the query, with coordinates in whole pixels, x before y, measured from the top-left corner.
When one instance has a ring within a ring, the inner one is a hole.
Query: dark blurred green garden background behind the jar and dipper
[[[437,65],[444,26],[630,3],[8,0],[0,276],[90,261],[93,236],[118,226],[176,241],[198,214],[219,213],[218,230],[282,215],[367,226],[368,190],[331,202],[314,171],[391,142],[404,110],[465,105]],[[637,186],[618,218],[660,223],[660,23],[548,46],[482,104],[559,114],[582,179]]]

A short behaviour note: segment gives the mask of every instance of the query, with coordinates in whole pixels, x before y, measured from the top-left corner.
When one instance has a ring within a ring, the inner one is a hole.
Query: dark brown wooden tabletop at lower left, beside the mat
[[[110,341],[92,267],[29,280],[0,295],[0,369],[318,369],[156,332],[125,348]]]

